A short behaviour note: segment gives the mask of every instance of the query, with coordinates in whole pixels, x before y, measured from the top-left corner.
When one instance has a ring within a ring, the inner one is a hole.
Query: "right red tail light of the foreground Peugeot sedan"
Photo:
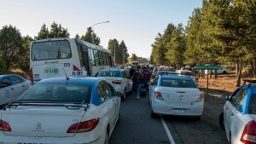
[[[99,124],[100,118],[94,118],[90,119],[84,122],[72,124],[68,130],[67,133],[82,133],[82,132],[88,132],[90,130],[94,130]]]

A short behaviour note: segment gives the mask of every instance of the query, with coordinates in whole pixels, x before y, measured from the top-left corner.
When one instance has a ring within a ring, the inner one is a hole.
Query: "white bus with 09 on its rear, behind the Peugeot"
[[[79,38],[33,41],[30,48],[32,83],[44,78],[92,76],[112,66],[110,50]]]

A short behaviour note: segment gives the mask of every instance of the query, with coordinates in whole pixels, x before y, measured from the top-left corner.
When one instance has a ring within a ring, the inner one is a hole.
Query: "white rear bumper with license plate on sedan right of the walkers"
[[[204,101],[193,102],[191,105],[166,105],[164,101],[153,100],[151,107],[154,113],[177,116],[201,116]]]

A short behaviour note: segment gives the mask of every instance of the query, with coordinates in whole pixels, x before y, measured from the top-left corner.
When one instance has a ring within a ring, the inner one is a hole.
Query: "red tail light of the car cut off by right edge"
[[[249,123],[247,123],[241,134],[240,141],[245,144],[256,143],[256,123],[254,121],[250,121]]]

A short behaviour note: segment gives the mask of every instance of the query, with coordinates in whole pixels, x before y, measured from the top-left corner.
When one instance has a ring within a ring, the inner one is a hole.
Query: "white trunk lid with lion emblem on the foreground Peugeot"
[[[84,109],[67,107],[17,107],[1,112],[2,120],[11,128],[4,134],[14,136],[70,137],[75,134],[67,133],[68,128],[83,116]]]

